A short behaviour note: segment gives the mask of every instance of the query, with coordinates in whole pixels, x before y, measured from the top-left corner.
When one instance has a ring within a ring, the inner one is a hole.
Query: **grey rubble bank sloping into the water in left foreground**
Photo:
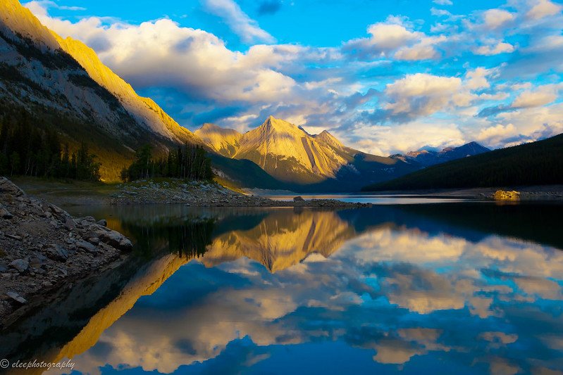
[[[34,300],[123,260],[132,243],[104,220],[73,218],[0,177],[0,327]]]

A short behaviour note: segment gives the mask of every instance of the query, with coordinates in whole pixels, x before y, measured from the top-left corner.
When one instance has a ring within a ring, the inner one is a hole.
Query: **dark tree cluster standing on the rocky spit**
[[[151,146],[146,145],[137,150],[135,161],[123,169],[121,179],[127,182],[153,177],[210,180],[213,179],[211,159],[202,146],[185,144],[156,158]]]

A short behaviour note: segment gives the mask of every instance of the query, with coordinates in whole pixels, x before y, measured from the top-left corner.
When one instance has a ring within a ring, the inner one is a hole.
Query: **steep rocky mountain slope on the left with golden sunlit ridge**
[[[202,142],[99,61],[81,42],[61,39],[17,0],[0,2],[0,107],[56,129],[70,148],[87,141],[115,180],[133,150]],[[4,117],[4,116],[3,116]]]

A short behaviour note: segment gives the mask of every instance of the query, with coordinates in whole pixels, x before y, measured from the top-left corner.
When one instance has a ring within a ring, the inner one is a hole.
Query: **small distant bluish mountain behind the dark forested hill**
[[[442,151],[419,150],[410,151],[406,155],[396,154],[390,158],[402,160],[406,163],[419,163],[423,167],[446,163],[451,160],[466,158],[467,156],[479,155],[490,151],[489,148],[483,147],[477,142],[469,142],[458,147],[443,148]]]

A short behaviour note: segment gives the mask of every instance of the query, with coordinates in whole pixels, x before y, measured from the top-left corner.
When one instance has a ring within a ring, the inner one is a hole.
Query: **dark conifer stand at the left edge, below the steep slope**
[[[85,143],[70,153],[57,132],[34,126],[25,111],[0,118],[0,174],[99,181],[100,163]]]

